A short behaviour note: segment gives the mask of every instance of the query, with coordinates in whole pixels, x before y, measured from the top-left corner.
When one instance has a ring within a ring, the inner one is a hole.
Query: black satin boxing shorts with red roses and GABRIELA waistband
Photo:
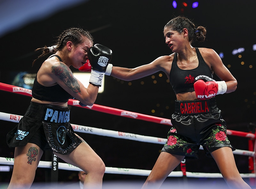
[[[162,152],[198,159],[200,146],[206,156],[228,146],[236,150],[227,137],[226,122],[216,105],[215,98],[208,100],[175,101],[172,128]]]

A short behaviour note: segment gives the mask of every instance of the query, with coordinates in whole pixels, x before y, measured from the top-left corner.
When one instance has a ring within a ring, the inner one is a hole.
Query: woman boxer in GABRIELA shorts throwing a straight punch
[[[230,188],[250,188],[236,168],[235,149],[227,138],[226,123],[214,97],[235,91],[237,81],[214,50],[191,45],[194,39],[203,42],[205,35],[206,28],[178,16],[164,26],[171,55],[136,68],[108,65],[106,75],[125,81],[163,71],[176,94],[173,126],[143,188],[159,188],[184,158],[197,158],[200,145],[207,156],[214,158]],[[212,79],[213,73],[220,82]]]

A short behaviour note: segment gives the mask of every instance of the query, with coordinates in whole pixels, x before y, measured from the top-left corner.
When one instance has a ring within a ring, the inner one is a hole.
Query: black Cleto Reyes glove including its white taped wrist
[[[103,76],[112,58],[112,50],[101,44],[95,44],[88,50],[88,59],[91,63],[92,71],[89,82],[93,85],[101,86]]]

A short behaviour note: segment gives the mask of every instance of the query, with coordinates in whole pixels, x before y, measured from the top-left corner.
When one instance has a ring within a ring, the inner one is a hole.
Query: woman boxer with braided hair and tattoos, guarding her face
[[[56,45],[38,50],[42,50],[38,58],[49,56],[50,52],[54,54],[43,62],[36,74],[32,99],[25,115],[7,134],[8,146],[15,147],[8,189],[29,188],[32,185],[44,150],[52,150],[62,160],[86,172],[85,188],[102,188],[105,164],[74,133],[69,122],[68,99],[74,97],[84,105],[93,105],[112,51],[100,44],[93,45],[91,34],[81,28],[63,31]],[[78,69],[88,59],[91,78],[85,88],[69,67]]]

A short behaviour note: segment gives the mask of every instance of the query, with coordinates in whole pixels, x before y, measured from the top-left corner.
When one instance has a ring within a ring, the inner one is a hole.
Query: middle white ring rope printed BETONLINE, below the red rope
[[[21,118],[22,118],[21,115],[7,114],[7,113],[0,112],[0,120],[19,122]],[[77,131],[77,132],[89,133],[89,134],[100,135],[105,137],[123,138],[128,140],[135,140],[135,141],[155,143],[155,144],[165,144],[167,141],[166,138],[157,138],[157,137],[150,137],[150,136],[138,135],[133,133],[126,133],[121,131],[106,130],[106,129],[100,129],[95,127],[76,125],[72,123],[71,123],[71,126],[74,129],[74,131]],[[233,132],[234,132],[233,130],[230,130],[230,132],[228,133],[233,133]],[[251,134],[251,133],[248,133],[248,134]],[[203,150],[203,147],[200,146],[199,149]],[[235,151],[233,151],[233,154],[255,157],[255,152],[248,151],[248,150],[236,149]]]

